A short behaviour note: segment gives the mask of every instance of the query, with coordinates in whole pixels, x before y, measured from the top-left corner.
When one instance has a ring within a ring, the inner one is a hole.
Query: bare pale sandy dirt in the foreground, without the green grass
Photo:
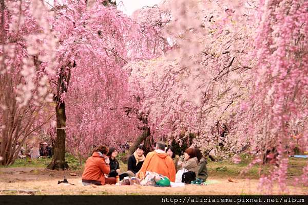
[[[0,194],[28,194],[27,190],[38,195],[243,195],[261,194],[256,179],[234,179],[209,177],[218,180],[217,184],[206,186],[187,185],[178,188],[159,188],[144,186],[82,186],[82,172],[74,172],[77,176],[70,176],[73,171],[50,171],[43,168],[0,168]],[[66,176],[72,185],[57,185],[58,180]],[[308,194],[308,189],[289,187],[290,194]],[[6,191],[3,191],[6,190]],[[23,190],[23,191],[16,191]],[[276,189],[273,194],[281,194]]]

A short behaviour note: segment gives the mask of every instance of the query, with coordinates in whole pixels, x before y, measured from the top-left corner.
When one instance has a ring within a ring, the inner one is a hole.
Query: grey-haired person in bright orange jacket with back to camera
[[[142,179],[146,171],[151,171],[168,177],[170,181],[176,180],[176,168],[171,157],[166,154],[165,147],[166,144],[163,142],[156,143],[155,151],[146,155],[140,171],[136,174],[137,177]]]

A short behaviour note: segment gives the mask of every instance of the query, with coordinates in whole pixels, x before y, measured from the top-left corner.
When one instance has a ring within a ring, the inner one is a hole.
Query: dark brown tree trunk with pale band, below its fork
[[[68,164],[65,162],[65,103],[59,102],[55,107],[56,111],[56,140],[54,144],[54,152],[52,156],[52,161],[48,165],[47,169],[51,170],[66,170],[68,169]]]

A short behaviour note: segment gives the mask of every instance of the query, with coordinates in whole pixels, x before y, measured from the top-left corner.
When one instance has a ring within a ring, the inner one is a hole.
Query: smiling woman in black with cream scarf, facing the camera
[[[144,159],[144,147],[139,145],[136,151],[128,158],[127,171],[131,171],[135,175],[141,169]]]

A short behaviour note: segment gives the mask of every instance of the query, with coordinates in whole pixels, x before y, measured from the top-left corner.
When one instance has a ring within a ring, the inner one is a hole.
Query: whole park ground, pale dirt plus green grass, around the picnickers
[[[292,179],[301,174],[300,167],[306,164],[307,160],[292,158],[291,167],[288,174],[290,190],[287,194],[306,195],[308,188],[294,187]],[[18,164],[19,163],[19,164]],[[206,186],[187,185],[178,188],[159,188],[144,186],[82,186],[81,175],[83,166],[78,167],[70,163],[74,169],[66,171],[46,170],[44,166],[48,160],[41,160],[41,163],[28,161],[22,164],[16,162],[16,167],[0,168],[0,195],[1,194],[35,194],[35,195],[255,195],[262,194],[258,188],[258,167],[253,168],[245,176],[239,172],[245,167],[245,163],[235,165],[226,161],[209,163],[209,180],[217,180],[216,184]],[[22,166],[22,167],[21,167]],[[120,167],[126,165],[121,163]],[[125,171],[125,170],[123,170]],[[70,176],[75,173],[76,176]],[[57,184],[63,180],[64,176],[69,183],[74,185]],[[277,186],[272,194],[283,194],[279,192]]]

